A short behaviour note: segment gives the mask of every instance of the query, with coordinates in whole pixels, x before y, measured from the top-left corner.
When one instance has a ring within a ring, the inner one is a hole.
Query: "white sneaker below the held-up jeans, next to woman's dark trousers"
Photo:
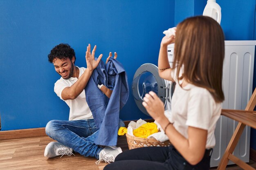
[[[99,160],[95,163],[98,165],[101,161],[106,163],[114,162],[117,155],[122,152],[120,147],[116,146],[106,146],[101,152],[99,152]]]

